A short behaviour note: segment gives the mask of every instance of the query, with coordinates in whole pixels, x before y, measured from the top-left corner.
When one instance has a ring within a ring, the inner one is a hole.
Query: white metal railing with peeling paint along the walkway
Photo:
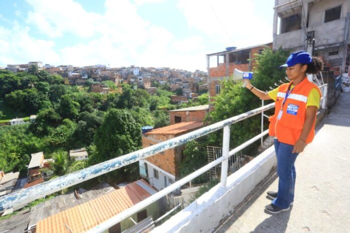
[[[324,96],[322,97],[322,108],[326,106],[326,94],[327,94],[327,84],[322,85],[320,87],[324,87]],[[184,177],[183,179],[176,181],[175,183],[167,186],[166,188],[160,190],[159,192],[151,195],[150,197],[144,199],[143,201],[133,205],[129,209],[124,210],[123,212],[118,213],[117,215],[113,216],[112,218],[108,219],[107,221],[101,223],[100,225],[90,229],[88,232],[102,232],[104,230],[107,230],[108,228],[112,227],[113,225],[117,224],[118,222],[128,218],[132,214],[138,212],[139,210],[147,207],[149,204],[157,201],[161,197],[167,195],[168,193],[180,188],[186,183],[189,183],[194,178],[200,176],[201,174],[207,172],[214,166],[221,164],[221,185],[223,187],[226,186],[227,181],[227,171],[228,171],[228,158],[235,153],[241,151],[248,145],[252,144],[253,142],[259,140],[260,138],[266,136],[268,134],[268,130],[262,131],[259,135],[253,137],[252,139],[248,140],[247,142],[241,144],[240,146],[234,148],[233,150],[229,151],[229,141],[230,141],[230,125],[235,124],[237,122],[240,122],[242,120],[248,119],[252,117],[253,115],[261,113],[262,116],[264,116],[264,111],[272,109],[275,107],[275,103],[271,103],[265,106],[261,106],[259,108],[247,111],[245,113],[236,115],[235,117],[229,118],[227,120],[212,124],[210,126],[206,126],[204,128],[201,128],[199,130],[187,133],[185,135],[179,136],[177,138],[173,138],[170,140],[167,140],[165,142],[158,143],[156,145],[129,153],[127,155],[120,156],[118,158],[105,161],[100,164],[96,164],[94,166],[91,166],[89,168],[85,168],[79,171],[76,171],[74,173],[67,174],[65,176],[58,177],[53,180],[46,181],[44,183],[22,189],[19,191],[16,191],[14,193],[10,193],[6,196],[0,197],[0,212],[13,208],[15,206],[20,206],[23,204],[27,204],[35,199],[44,197],[48,194],[57,192],[61,189],[73,186],[75,184],[78,184],[80,182],[92,179],[94,177],[100,176],[102,174],[105,174],[107,172],[116,170],[118,168],[124,167],[126,165],[129,165],[131,163],[137,162],[141,159],[145,159],[147,157],[150,157],[154,154],[157,154],[159,152],[163,152],[165,150],[178,147],[180,145],[183,145],[187,142],[190,142],[192,140],[195,140],[197,138],[200,138],[202,136],[208,135],[212,132],[215,132],[217,130],[223,129],[223,149],[222,149],[222,157],[216,159],[215,161],[205,165],[204,167],[198,169],[197,171],[193,172],[192,174]]]

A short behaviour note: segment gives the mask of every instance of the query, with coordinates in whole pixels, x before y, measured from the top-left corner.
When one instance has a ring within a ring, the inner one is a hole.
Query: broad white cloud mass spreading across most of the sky
[[[162,1],[106,0],[105,11],[97,14],[86,11],[73,0],[27,0],[32,9],[28,14],[21,14],[27,17],[27,26],[16,23],[11,29],[0,27],[0,64],[40,60],[54,65],[102,63],[112,67],[136,65],[205,70],[205,54],[217,52],[209,46],[216,45],[223,50],[226,46],[244,47],[270,40],[260,36],[262,31],[270,30],[270,25],[254,16],[252,0],[239,5],[236,1],[210,0],[216,15],[206,1],[179,0],[179,9],[189,27],[200,31],[198,35],[181,40],[166,28],[138,15],[140,5]],[[46,35],[43,37],[46,39],[31,37],[30,32],[34,30]],[[81,41],[57,48],[55,41],[66,40],[67,35],[81,38]]]

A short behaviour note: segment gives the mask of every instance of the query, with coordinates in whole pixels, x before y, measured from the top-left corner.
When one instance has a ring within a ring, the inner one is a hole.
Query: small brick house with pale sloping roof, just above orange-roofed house
[[[168,112],[170,125],[181,122],[203,122],[205,115],[209,112],[209,104],[180,108]]]

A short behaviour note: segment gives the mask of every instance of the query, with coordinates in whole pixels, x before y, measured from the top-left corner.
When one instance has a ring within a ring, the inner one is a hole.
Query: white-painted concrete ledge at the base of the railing
[[[212,232],[276,164],[272,146],[151,232]]]

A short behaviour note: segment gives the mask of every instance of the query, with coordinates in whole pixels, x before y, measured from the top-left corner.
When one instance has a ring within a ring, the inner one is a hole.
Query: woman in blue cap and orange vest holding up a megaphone
[[[321,92],[317,85],[307,79],[306,74],[316,74],[323,64],[317,57],[305,51],[292,53],[286,64],[286,74],[290,83],[282,84],[268,93],[256,89],[245,79],[246,88],[257,97],[276,101],[275,114],[269,119],[269,135],[275,137],[277,155],[278,192],[268,192],[273,199],[265,209],[270,213],[289,210],[294,201],[295,160],[314,138],[316,112]]]

